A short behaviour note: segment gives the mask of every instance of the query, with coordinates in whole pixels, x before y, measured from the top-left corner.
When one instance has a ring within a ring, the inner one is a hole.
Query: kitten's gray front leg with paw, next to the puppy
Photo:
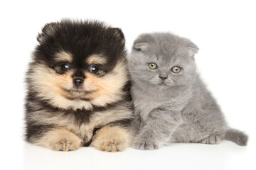
[[[152,111],[146,120],[142,120],[144,126],[134,138],[133,147],[142,150],[158,149],[170,140],[180,122],[180,115],[166,111]]]

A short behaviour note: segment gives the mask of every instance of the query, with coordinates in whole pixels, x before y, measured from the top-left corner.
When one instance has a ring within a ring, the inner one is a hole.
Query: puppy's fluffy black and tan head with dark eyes
[[[124,35],[95,21],[48,23],[38,35],[28,89],[57,108],[92,109],[122,99]]]

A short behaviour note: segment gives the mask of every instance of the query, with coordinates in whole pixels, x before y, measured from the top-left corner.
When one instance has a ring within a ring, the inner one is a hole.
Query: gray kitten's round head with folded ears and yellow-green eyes
[[[196,69],[193,42],[171,33],[142,34],[128,57],[129,72],[139,86],[183,86],[193,80]]]

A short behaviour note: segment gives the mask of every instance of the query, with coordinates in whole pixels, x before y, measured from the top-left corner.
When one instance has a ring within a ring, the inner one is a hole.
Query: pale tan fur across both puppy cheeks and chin
[[[29,74],[33,86],[31,89],[37,92],[37,96],[46,100],[57,108],[85,108],[92,109],[95,106],[107,106],[107,103],[114,103],[124,97],[122,88],[127,83],[127,67],[124,61],[120,61],[112,72],[103,77],[85,72],[84,93],[70,94],[64,89],[72,89],[73,72],[57,74],[53,69],[43,64],[33,66],[33,72]],[[70,98],[75,98],[70,100]],[[76,99],[77,98],[77,99]],[[80,100],[87,98],[88,100]]]

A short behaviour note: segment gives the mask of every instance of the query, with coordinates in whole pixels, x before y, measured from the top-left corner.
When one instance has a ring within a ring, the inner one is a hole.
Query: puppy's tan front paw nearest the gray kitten
[[[129,147],[132,135],[119,126],[105,126],[96,132],[92,140],[92,147],[105,152],[118,152]]]

